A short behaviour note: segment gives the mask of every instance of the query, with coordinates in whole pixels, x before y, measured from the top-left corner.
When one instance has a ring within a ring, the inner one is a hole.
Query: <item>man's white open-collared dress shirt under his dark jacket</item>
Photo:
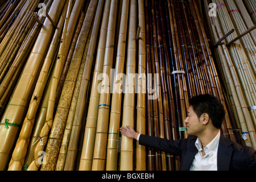
[[[192,161],[190,171],[217,171],[217,151],[220,141],[220,131],[213,140],[204,148],[205,155],[203,156],[202,143],[197,138],[195,146],[198,149],[195,158]]]

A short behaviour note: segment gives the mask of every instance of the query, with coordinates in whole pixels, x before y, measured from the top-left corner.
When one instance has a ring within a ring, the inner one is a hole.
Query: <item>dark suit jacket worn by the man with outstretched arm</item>
[[[180,155],[180,170],[188,171],[198,152],[195,142],[197,137],[187,139],[167,140],[158,137],[141,135],[139,144],[155,148],[167,153]],[[252,147],[244,146],[220,136],[217,152],[217,170],[254,170],[256,171],[256,151]]]

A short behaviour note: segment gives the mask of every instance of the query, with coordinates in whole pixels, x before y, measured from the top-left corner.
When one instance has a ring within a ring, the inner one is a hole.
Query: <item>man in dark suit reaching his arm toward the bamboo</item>
[[[202,94],[189,101],[187,139],[167,140],[136,133],[130,126],[121,127],[121,134],[139,144],[180,155],[180,170],[255,170],[256,151],[226,139],[220,128],[225,117],[221,102]]]

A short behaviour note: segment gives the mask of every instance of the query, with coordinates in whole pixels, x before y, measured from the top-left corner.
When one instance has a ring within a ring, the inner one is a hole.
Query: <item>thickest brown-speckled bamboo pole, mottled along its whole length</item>
[[[94,15],[94,8],[97,2],[89,5],[89,10],[87,11],[85,16],[85,21],[82,24],[79,38],[77,39],[76,48],[73,53],[73,57],[71,60],[71,65],[68,70],[67,77],[65,78],[63,90],[61,92],[59,104],[57,106],[57,110],[55,113],[55,118],[53,120],[53,125],[51,129],[51,133],[49,134],[49,139],[46,147],[46,164],[42,165],[41,170],[54,170],[56,167],[57,157],[59,155],[60,144],[63,138],[65,123],[67,122],[68,110],[71,104],[73,91],[75,89],[77,75],[79,73],[79,68],[82,61],[82,56],[84,54],[84,48],[86,44],[86,40],[88,39],[88,34],[90,30],[90,24]],[[76,1],[74,9],[77,10],[75,12],[80,12],[82,1]],[[92,13],[88,16],[88,13]],[[77,16],[78,18],[78,16]],[[62,64],[63,66],[64,64]],[[59,76],[59,75],[58,75]],[[59,77],[58,77],[59,78]]]

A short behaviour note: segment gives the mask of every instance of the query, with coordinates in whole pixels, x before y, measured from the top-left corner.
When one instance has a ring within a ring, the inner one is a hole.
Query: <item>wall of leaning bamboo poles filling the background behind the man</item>
[[[241,2],[212,2],[213,42],[250,28]],[[179,156],[135,144],[119,127],[187,138],[188,101],[203,93],[224,105],[222,134],[255,147],[253,31],[210,49],[196,0],[39,3],[0,2],[0,169],[179,170]],[[44,5],[46,16],[34,12]]]

